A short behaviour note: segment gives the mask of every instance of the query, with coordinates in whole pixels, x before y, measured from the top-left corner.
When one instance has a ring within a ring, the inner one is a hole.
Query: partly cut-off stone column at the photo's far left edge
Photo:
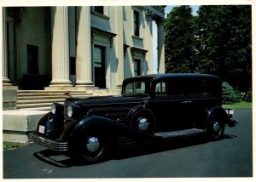
[[[2,9],[2,79],[3,79],[3,86],[11,86],[10,80],[8,78],[8,53],[7,53],[7,25],[6,25],[6,8]]]

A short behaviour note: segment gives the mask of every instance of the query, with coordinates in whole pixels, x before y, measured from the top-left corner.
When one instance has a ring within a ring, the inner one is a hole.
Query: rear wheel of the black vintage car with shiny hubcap
[[[224,135],[224,122],[219,116],[212,116],[210,121],[208,121],[207,134],[210,139],[217,140],[221,139]]]

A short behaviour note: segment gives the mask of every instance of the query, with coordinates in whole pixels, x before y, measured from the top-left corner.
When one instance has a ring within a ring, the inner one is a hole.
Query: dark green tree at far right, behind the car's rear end
[[[196,17],[198,71],[218,75],[234,88],[252,85],[251,6],[201,6]]]

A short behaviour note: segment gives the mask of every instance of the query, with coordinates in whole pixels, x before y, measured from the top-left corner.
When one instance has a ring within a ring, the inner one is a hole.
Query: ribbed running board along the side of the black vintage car
[[[180,138],[197,134],[205,134],[206,130],[198,128],[190,128],[184,130],[177,130],[172,132],[159,132],[155,133],[154,136],[162,137],[163,139]]]

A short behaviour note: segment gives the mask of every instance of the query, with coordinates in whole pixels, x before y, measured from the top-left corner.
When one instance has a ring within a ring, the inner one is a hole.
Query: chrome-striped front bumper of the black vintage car
[[[53,151],[68,151],[68,144],[67,142],[63,141],[56,141],[53,139],[47,139],[46,137],[42,136],[41,134],[38,134],[38,132],[31,132],[29,134],[29,138],[37,143],[38,145],[43,145],[50,150]]]

